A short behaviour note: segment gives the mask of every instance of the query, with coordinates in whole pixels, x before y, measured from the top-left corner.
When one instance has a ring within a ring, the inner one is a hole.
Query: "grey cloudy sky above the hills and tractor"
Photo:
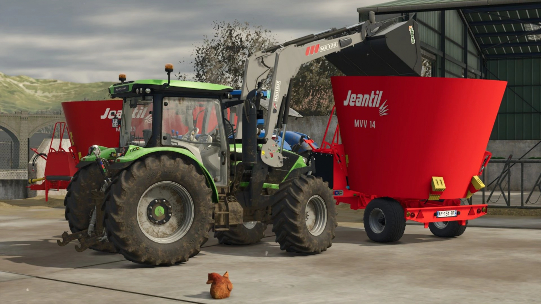
[[[72,82],[163,78],[212,35],[213,21],[248,21],[279,42],[357,23],[388,0],[0,0],[0,72]]]

